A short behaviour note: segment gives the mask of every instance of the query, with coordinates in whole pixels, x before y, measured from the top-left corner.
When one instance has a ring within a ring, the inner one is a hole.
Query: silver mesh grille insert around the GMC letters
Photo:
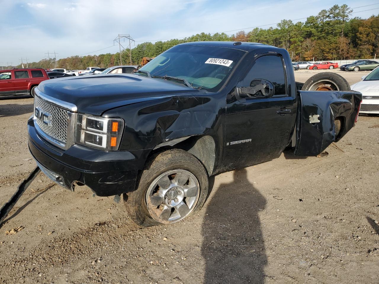
[[[37,107],[40,108],[42,112],[47,112],[51,115],[50,126],[42,122],[42,120],[36,120],[39,128],[53,139],[66,143],[69,112],[34,96],[34,112]]]

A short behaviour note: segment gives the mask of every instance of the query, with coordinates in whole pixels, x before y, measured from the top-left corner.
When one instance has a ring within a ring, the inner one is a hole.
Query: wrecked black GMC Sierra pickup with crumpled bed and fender
[[[39,84],[29,149],[61,186],[122,194],[142,226],[174,223],[202,207],[209,176],[343,137],[362,94],[332,75],[296,84],[288,52],[264,44],[180,44],[134,74]]]

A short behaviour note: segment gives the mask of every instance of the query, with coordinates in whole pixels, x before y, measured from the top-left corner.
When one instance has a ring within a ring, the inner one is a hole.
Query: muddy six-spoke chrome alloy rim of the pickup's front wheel
[[[157,176],[147,188],[145,201],[150,216],[163,224],[182,220],[199,200],[200,185],[186,170],[169,170]]]

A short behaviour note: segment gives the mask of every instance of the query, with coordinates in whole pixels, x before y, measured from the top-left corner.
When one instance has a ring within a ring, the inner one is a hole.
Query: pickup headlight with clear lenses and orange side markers
[[[76,143],[103,150],[117,150],[124,120],[78,115]]]

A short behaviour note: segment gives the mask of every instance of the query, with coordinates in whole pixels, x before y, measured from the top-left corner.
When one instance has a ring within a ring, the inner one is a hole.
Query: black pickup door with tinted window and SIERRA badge
[[[241,88],[251,89],[257,81],[272,83],[273,95],[264,97],[259,91],[255,96],[240,97]],[[291,139],[297,111],[296,93],[291,97],[288,92],[282,55],[270,53],[255,59],[235,89],[227,97],[224,168],[246,167],[278,158]]]

